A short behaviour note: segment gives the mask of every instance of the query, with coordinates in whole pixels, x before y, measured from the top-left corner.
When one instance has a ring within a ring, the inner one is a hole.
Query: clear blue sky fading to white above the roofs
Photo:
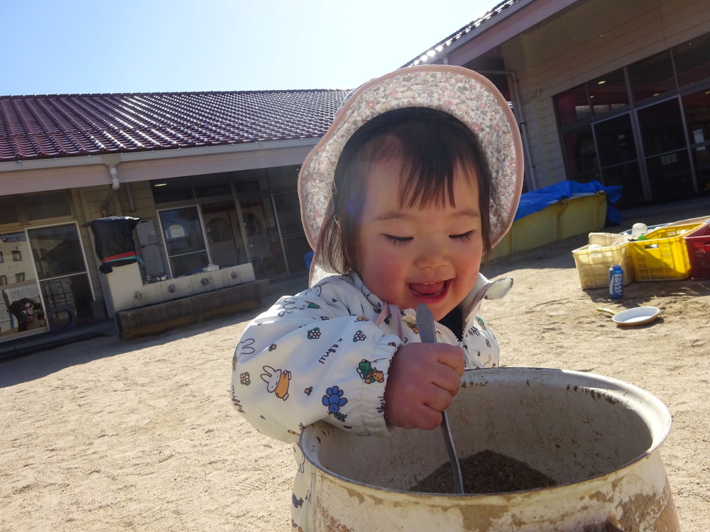
[[[0,95],[351,88],[501,0],[0,0]]]

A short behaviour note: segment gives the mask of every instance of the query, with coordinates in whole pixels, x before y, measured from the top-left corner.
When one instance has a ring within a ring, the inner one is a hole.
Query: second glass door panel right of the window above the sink
[[[285,274],[286,265],[270,198],[242,200],[241,214],[256,278]]]

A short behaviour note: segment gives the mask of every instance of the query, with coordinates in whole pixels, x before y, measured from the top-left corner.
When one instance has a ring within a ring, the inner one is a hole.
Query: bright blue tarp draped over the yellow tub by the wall
[[[599,181],[589,183],[578,183],[576,181],[563,181],[555,183],[550,187],[525,192],[520,196],[518,211],[515,213],[515,220],[528,216],[537,211],[542,211],[550,204],[557,203],[561,199],[571,198],[579,194],[595,194],[604,192],[606,194],[606,219],[611,223],[621,223],[621,213],[613,206],[621,198],[621,187],[605,187]]]

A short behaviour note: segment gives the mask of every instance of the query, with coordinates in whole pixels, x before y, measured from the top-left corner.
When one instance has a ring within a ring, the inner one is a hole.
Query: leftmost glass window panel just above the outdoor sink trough
[[[159,215],[173,277],[189,275],[207,266],[207,248],[197,207],[169,209]]]

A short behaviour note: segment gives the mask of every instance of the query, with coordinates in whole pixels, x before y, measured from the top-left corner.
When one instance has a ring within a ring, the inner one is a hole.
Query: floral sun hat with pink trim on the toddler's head
[[[318,271],[317,241],[331,208],[335,167],[346,142],[375,116],[403,107],[438,109],[469,126],[479,139],[493,177],[491,246],[513,224],[523,188],[523,143],[503,95],[486,77],[464,67],[421,65],[395,70],[361,85],[348,96],[301,167],[301,220],[308,243],[315,250],[311,282],[329,273]]]

